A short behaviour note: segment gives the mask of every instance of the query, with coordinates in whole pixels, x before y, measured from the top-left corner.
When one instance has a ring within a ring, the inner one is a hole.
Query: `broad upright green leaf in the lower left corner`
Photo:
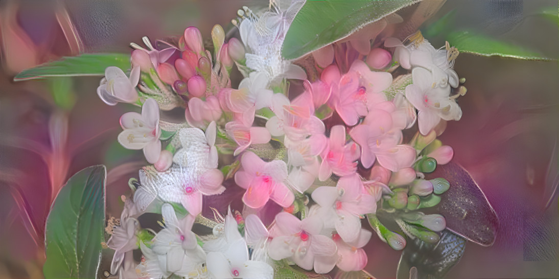
[[[70,177],[46,219],[49,278],[97,278],[105,240],[105,166],[87,167]]]

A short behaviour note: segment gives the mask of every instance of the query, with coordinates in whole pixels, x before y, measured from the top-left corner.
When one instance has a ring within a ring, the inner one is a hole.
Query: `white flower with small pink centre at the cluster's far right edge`
[[[406,86],[406,98],[419,110],[419,132],[428,134],[440,119],[458,121],[462,118],[462,109],[451,99],[450,86],[435,86],[433,75],[423,68],[411,71],[413,84]]]

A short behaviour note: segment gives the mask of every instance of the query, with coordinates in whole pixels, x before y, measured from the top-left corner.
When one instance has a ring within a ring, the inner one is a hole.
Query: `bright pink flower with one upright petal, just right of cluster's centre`
[[[338,176],[350,175],[357,171],[359,146],[354,142],[345,143],[345,127],[341,125],[330,129],[328,146],[321,154],[319,180],[325,181],[332,173]]]

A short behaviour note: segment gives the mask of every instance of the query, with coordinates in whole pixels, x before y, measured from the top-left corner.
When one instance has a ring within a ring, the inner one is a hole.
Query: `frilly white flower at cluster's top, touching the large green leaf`
[[[285,34],[305,1],[284,2],[285,5],[272,2],[273,10],[259,17],[247,9],[248,18],[239,26],[241,40],[248,49],[245,55],[248,68],[266,73],[272,82],[278,78],[306,79],[303,69],[283,60],[281,56]]]

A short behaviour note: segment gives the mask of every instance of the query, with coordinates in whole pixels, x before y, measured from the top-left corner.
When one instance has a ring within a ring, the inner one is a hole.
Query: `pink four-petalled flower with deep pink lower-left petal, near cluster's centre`
[[[264,206],[269,199],[287,208],[295,200],[295,195],[283,181],[287,178],[287,165],[280,160],[264,162],[252,152],[241,157],[243,170],[236,172],[235,182],[247,189],[243,202],[251,208]]]

